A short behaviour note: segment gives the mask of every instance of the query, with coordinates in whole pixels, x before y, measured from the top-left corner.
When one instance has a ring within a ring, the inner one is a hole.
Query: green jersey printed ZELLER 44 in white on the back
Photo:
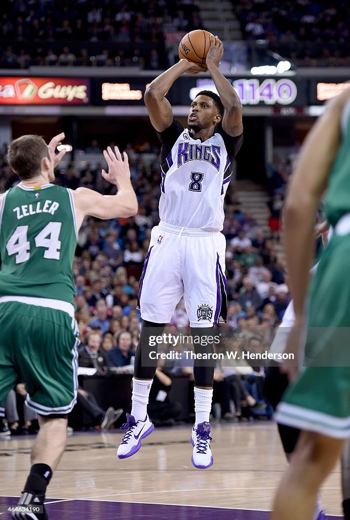
[[[0,211],[0,295],[73,303],[73,196],[53,184],[10,188]]]

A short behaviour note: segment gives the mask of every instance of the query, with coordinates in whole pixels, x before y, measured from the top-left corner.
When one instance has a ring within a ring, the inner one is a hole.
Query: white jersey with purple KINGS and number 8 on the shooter
[[[223,199],[243,134],[231,137],[221,123],[204,142],[193,139],[176,119],[158,133],[161,151],[161,222],[186,229],[221,231]]]

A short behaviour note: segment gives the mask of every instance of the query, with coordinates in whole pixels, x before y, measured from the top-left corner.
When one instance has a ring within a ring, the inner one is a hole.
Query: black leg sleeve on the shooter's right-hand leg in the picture
[[[213,327],[191,327],[194,354],[196,358],[193,363],[193,375],[195,386],[213,386],[215,360],[213,359],[214,339],[209,343],[209,339],[214,335]],[[206,355],[207,359],[197,359],[198,354]]]

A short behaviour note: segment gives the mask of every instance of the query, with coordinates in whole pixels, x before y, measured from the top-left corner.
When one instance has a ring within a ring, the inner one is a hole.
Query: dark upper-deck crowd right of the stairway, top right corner
[[[350,7],[341,0],[238,0],[233,9],[246,40],[267,40],[269,49],[298,66],[349,66]]]

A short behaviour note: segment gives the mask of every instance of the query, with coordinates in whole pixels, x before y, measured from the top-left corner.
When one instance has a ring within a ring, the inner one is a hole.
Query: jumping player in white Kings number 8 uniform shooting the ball
[[[222,42],[211,35],[206,67],[217,94],[203,90],[192,101],[187,128],[174,119],[165,98],[183,73],[203,68],[181,59],[158,76],[146,90],[150,121],[162,144],[160,224],[152,229],[140,280],[142,331],[135,356],[131,415],[118,457],[132,456],[154,426],[147,404],[157,360],[150,359],[150,335],[160,335],[184,296],[192,336],[213,335],[220,316],[226,319],[226,240],[223,199],[232,175],[233,159],[243,140],[242,105],[232,85],[218,70]],[[195,354],[213,353],[213,344],[194,343]],[[208,356],[209,357],[209,356]],[[194,361],[195,424],[192,429],[192,464],[205,469],[213,464],[210,448],[214,361]]]

